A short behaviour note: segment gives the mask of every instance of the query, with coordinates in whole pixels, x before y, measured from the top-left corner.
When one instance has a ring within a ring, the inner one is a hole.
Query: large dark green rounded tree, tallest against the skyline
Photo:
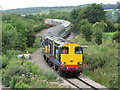
[[[88,19],[90,23],[96,23],[105,20],[105,11],[99,4],[92,4],[84,9],[83,19]]]

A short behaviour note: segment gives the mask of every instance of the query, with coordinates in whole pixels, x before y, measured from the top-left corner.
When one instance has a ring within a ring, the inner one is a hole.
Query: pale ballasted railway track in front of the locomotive
[[[64,78],[64,79],[80,90],[88,90],[88,89],[109,90],[105,86],[102,86],[99,83],[96,83],[93,80],[90,80],[87,77],[83,77],[83,76],[78,78]]]

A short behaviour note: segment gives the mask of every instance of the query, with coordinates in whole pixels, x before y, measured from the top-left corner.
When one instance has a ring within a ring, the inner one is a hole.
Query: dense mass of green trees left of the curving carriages
[[[3,14],[2,51],[12,49],[23,51],[28,47],[34,47],[35,34],[48,28],[43,23],[44,18],[44,15]]]

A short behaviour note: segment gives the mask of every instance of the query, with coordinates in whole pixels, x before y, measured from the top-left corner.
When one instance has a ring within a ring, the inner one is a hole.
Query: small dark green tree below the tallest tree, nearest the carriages
[[[92,34],[93,34],[93,31],[92,31],[92,24],[88,23],[88,24],[84,24],[80,27],[85,39],[87,41],[91,41],[92,40]]]

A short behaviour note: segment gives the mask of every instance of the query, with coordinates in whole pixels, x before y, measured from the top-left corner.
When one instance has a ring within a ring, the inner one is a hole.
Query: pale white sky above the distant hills
[[[0,0],[2,10],[26,7],[77,6],[91,3],[115,4],[120,0]]]

